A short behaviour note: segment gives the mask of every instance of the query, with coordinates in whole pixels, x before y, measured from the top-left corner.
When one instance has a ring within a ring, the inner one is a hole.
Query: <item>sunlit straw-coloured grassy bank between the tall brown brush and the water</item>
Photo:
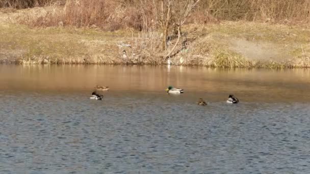
[[[46,10],[48,12],[48,10]],[[166,64],[157,32],[98,27],[30,27],[21,18],[42,9],[0,11],[0,61],[16,64]],[[29,16],[29,15],[28,15]],[[175,65],[239,68],[310,67],[310,29],[249,21],[187,24],[186,48],[178,46]],[[186,37],[185,37],[186,35]],[[173,45],[175,39],[169,44]],[[126,59],[122,51],[126,50]]]

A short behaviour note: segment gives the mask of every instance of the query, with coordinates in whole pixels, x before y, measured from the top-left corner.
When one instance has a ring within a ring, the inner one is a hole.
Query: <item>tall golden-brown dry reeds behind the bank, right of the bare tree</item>
[[[200,20],[204,22],[213,18],[267,22],[305,21],[310,17],[310,1],[202,0],[197,13],[200,13]]]

